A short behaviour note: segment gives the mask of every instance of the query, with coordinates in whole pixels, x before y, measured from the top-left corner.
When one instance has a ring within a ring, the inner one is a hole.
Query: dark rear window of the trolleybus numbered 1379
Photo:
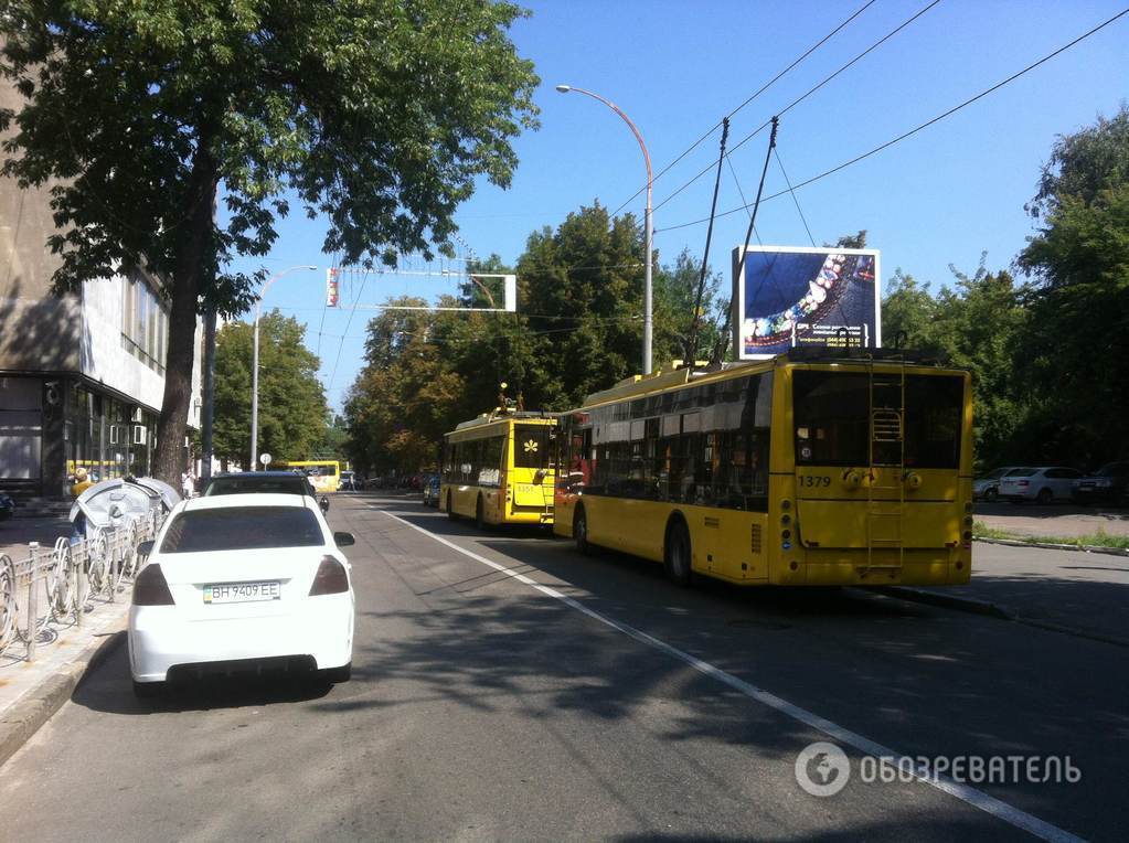
[[[875,405],[896,406],[893,376],[875,376]],[[884,386],[877,386],[884,383]],[[799,370],[793,378],[796,463],[867,465],[870,458],[870,380],[864,372]],[[951,375],[905,378],[904,465],[956,468],[961,456],[964,379]],[[895,465],[896,442],[875,442],[875,465]]]

